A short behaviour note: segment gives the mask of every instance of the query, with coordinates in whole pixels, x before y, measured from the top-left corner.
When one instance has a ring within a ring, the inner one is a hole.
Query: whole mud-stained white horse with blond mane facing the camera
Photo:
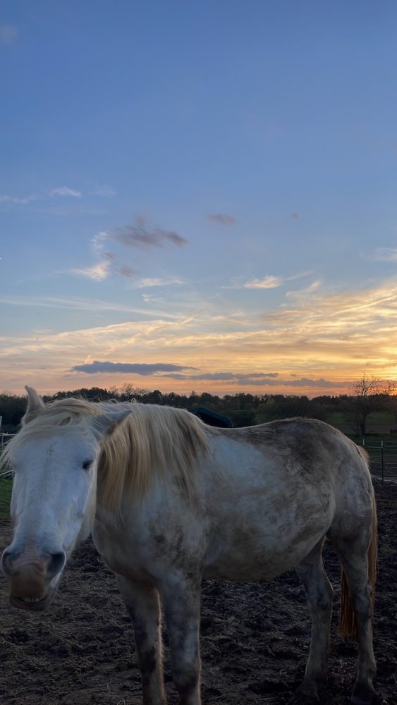
[[[27,390],[23,428],[5,458],[15,471],[15,532],[1,565],[14,607],[46,609],[73,546],[92,531],[133,622],[144,705],[165,703],[160,601],[181,703],[200,705],[202,577],[270,580],[295,568],[312,616],[297,699],[319,703],[331,619],[328,537],[343,566],[341,634],[358,639],[352,701],[372,702],[377,519],[362,450],[310,419],[214,429],[181,409],[44,405]]]

